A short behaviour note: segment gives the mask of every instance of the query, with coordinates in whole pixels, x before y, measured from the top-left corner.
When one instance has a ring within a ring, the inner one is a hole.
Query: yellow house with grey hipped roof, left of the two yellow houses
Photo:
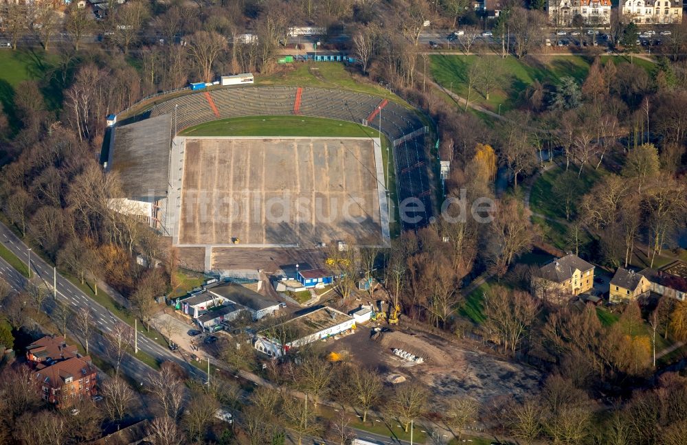
[[[560,303],[592,289],[594,265],[571,253],[542,266],[533,285],[540,298]]]

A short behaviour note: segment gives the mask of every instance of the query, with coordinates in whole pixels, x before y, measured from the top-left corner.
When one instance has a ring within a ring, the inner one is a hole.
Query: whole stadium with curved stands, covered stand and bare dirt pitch
[[[387,246],[432,216],[429,128],[400,100],[213,87],[117,120],[104,159],[124,196],[112,205],[159,230],[191,269],[257,269],[284,252],[297,262],[339,240]],[[410,218],[398,220],[398,203]]]

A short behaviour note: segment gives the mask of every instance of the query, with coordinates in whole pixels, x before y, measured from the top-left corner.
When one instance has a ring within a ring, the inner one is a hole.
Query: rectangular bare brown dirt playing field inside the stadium
[[[382,244],[372,139],[199,137],[184,150],[180,246]]]

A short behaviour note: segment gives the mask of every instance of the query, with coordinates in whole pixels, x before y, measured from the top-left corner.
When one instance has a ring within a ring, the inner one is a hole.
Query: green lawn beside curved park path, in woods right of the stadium
[[[578,169],[578,166],[571,164],[569,171],[577,174]],[[554,184],[563,173],[565,173],[565,166],[556,166],[540,174],[534,181],[532,192],[530,193],[530,209],[532,209],[532,212],[548,216],[548,218],[565,220],[565,204],[552,193]],[[607,171],[603,167],[599,167],[598,170],[589,166],[583,168],[580,175],[578,202],[605,174],[607,174]],[[571,220],[575,218],[577,213],[576,204],[573,203],[572,205]]]

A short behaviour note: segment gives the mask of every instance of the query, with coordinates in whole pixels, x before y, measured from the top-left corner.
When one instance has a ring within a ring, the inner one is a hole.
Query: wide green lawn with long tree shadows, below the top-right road
[[[491,111],[499,111],[499,105],[501,105],[502,113],[515,108],[521,92],[525,91],[534,80],[543,84],[555,84],[563,76],[572,76],[578,82],[582,82],[589,71],[589,62],[582,56],[526,56],[517,59],[515,57],[501,58],[496,55],[440,55],[430,57],[431,74],[442,87],[465,98],[467,96],[466,73],[469,66],[480,57],[495,58],[497,66],[502,71],[498,82],[502,86],[491,91],[489,100],[486,100],[485,95],[477,87],[471,93],[470,102],[480,104]]]

